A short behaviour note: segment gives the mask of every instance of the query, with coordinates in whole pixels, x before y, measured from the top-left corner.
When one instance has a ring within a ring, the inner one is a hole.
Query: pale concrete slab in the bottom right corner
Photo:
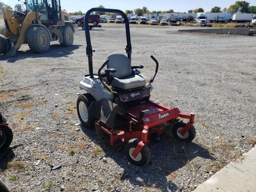
[[[239,162],[231,162],[194,192],[254,192],[256,191],[256,146],[243,154]]]

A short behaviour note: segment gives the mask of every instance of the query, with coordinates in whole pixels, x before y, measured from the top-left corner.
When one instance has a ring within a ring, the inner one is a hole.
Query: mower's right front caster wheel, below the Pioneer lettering
[[[193,125],[190,127],[190,129],[184,136],[181,137],[181,134],[178,134],[178,132],[180,132],[180,130],[182,130],[182,128],[184,128],[185,126],[186,126],[186,123],[182,121],[176,122],[172,127],[173,136],[178,141],[191,142],[196,137],[196,129],[194,128]]]

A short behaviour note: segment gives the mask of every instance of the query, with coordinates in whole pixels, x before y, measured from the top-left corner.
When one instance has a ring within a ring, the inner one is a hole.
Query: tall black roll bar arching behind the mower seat
[[[91,12],[109,12],[109,13],[119,13],[123,18],[125,22],[125,30],[126,30],[126,53],[128,59],[131,61],[132,56],[132,44],[131,44],[131,37],[130,37],[130,27],[129,27],[129,20],[124,12],[118,9],[105,9],[105,8],[91,8],[86,12],[84,15],[84,27],[85,27],[85,37],[86,37],[86,56],[88,57],[88,64],[89,64],[89,74],[90,78],[94,78],[93,75],[93,65],[92,65],[92,52],[95,52],[95,50],[92,50],[92,44],[91,44],[91,38],[90,38],[90,29],[89,29],[89,23],[88,23],[88,17]]]

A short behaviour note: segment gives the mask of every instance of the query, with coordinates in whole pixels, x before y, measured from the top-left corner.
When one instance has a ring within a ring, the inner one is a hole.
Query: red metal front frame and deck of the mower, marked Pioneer
[[[139,121],[139,111],[150,109]],[[118,143],[126,144],[133,138],[141,139],[137,144],[132,156],[136,158],[141,152],[144,145],[150,142],[152,134],[160,135],[168,126],[172,126],[177,118],[188,119],[189,122],[182,128],[180,134],[184,136],[186,132],[194,124],[194,113],[185,114],[180,112],[178,108],[169,108],[157,102],[149,100],[146,104],[128,108],[128,121],[129,128],[120,127],[118,129],[110,129],[105,126],[101,121],[96,121],[96,128],[100,128],[110,136],[110,145],[116,146]],[[139,124],[138,128],[132,128],[132,124]]]

